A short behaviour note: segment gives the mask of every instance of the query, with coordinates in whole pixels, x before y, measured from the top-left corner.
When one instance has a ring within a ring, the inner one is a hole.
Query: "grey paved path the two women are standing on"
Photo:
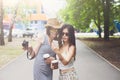
[[[75,69],[79,80],[120,80],[120,69],[110,64],[84,43],[76,40]],[[34,60],[23,54],[0,69],[0,80],[33,80]],[[58,80],[59,71],[54,70],[53,80]]]

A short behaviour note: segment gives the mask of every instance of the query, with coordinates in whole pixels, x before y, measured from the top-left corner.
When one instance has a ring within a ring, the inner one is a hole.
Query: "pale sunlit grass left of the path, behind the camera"
[[[21,43],[24,39],[28,40],[31,45],[35,44],[35,41],[30,38],[13,38],[12,42],[5,39],[5,46],[0,46],[0,68],[23,54]]]

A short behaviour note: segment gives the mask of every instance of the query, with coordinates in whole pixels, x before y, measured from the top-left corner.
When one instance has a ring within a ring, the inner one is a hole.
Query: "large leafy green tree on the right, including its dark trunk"
[[[119,5],[116,7],[112,5],[115,0],[66,1],[67,6],[62,10],[62,18],[65,22],[67,20],[67,22],[75,25],[75,27],[85,30],[92,19],[98,27],[99,32],[101,32],[100,26],[104,25],[104,39],[109,40],[109,29],[113,25],[113,19],[119,19],[120,7]],[[112,8],[114,9],[112,10]],[[99,37],[101,37],[101,33],[99,33]]]

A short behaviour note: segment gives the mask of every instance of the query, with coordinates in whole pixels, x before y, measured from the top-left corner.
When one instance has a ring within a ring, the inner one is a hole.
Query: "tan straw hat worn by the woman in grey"
[[[59,29],[61,27],[61,24],[56,18],[50,18],[47,20],[47,24],[45,25],[45,27],[47,28],[50,26]]]

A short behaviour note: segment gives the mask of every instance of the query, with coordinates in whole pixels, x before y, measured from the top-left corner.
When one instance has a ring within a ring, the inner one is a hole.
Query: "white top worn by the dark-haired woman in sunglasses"
[[[69,54],[67,54],[67,53],[62,53],[61,54],[64,58],[66,58],[66,56],[67,55],[69,55]],[[58,56],[57,56],[58,57]],[[58,58],[59,59],[59,58]],[[69,69],[69,68],[72,68],[73,67],[73,63],[74,63],[74,57],[71,59],[71,61],[67,64],[67,65],[63,65],[62,64],[62,62],[59,60],[59,69],[62,69],[62,70],[64,70],[64,69]]]

